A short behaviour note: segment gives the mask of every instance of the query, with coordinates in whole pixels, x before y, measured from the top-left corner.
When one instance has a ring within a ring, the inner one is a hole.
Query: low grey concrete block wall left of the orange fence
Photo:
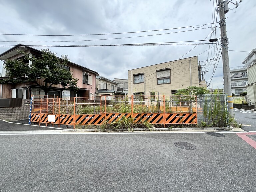
[[[25,105],[24,103],[29,103],[30,100],[23,99],[22,107],[15,108],[0,108],[0,119],[6,121],[18,121],[29,118],[30,105]]]

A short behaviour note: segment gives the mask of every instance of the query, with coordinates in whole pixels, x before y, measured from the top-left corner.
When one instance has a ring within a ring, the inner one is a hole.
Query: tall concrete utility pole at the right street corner
[[[233,117],[233,98],[231,92],[231,80],[228,58],[228,38],[226,31],[226,18],[225,13],[228,12],[228,1],[219,0],[219,12],[220,12],[220,33],[221,33],[221,49],[222,49],[222,63],[223,63],[223,77],[224,77],[224,91],[228,96],[228,113]]]

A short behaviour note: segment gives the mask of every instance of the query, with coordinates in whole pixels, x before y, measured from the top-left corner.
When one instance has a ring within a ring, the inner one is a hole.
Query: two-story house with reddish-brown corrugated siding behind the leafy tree
[[[22,50],[26,53],[35,56],[41,56],[42,51],[35,48],[18,44],[11,49],[0,54],[0,59],[5,61],[7,59],[22,59],[23,55],[19,54],[17,51]],[[27,61],[29,64],[33,65],[32,61]],[[8,75],[4,69],[5,65],[3,64],[3,77],[5,78]],[[69,62],[67,66],[62,66],[66,70],[73,72],[73,77],[78,79],[77,86],[79,91],[77,92],[78,97],[94,97],[96,96],[96,76],[99,74],[96,71],[83,67],[81,65]],[[42,79],[38,79],[38,83],[42,85]],[[75,94],[70,91],[64,91],[61,85],[53,85],[51,91],[48,95],[54,95],[62,97],[62,94],[68,97],[74,97]],[[30,99],[31,95],[39,95],[40,97],[44,96],[44,91],[40,89],[35,83],[19,83],[19,84],[1,84],[0,89],[0,98],[23,98]]]

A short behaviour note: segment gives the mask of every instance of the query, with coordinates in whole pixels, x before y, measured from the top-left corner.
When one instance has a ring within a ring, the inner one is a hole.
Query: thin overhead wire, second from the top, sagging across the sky
[[[148,37],[148,36],[156,36],[156,35],[167,35],[167,34],[173,34],[173,33],[182,33],[182,32],[188,32],[188,31],[208,29],[208,28],[211,28],[211,27],[200,28],[200,29],[192,29],[192,30],[186,30],[186,31],[177,31],[177,32],[171,32],[171,33],[161,33],[161,34],[132,36],[132,37],[107,38],[107,39],[90,39],[90,40],[74,40],[74,41],[0,41],[0,42],[25,42],[25,43],[50,43],[51,42],[51,43],[59,43],[59,42],[101,41],[101,40],[112,40],[112,39],[128,39],[128,38],[137,38],[137,37]]]

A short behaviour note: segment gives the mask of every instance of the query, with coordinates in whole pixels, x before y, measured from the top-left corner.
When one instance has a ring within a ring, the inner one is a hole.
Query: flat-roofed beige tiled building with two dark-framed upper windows
[[[129,95],[167,96],[188,86],[206,87],[197,56],[128,71]]]

